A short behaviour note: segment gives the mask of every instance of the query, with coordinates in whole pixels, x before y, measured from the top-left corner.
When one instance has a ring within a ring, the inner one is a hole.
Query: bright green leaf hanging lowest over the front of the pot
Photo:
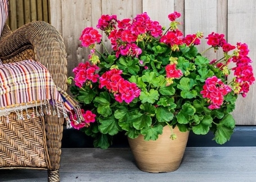
[[[156,125],[154,127],[149,127],[141,130],[141,134],[145,135],[144,136],[145,141],[150,141],[150,140],[155,141],[156,139],[158,139],[158,135],[162,133],[163,133],[162,125]]]

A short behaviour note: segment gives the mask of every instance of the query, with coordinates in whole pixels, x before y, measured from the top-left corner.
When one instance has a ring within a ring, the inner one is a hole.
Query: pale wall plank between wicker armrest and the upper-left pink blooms
[[[96,3],[100,0],[94,1],[94,3]],[[53,3],[51,4],[52,6],[54,5]],[[68,72],[70,75],[73,75],[72,69],[77,66],[78,62],[84,62],[84,60],[87,59],[87,55],[89,54],[88,49],[83,49],[81,47],[79,37],[85,27],[93,26],[91,20],[91,0],[74,0],[70,1],[69,3],[66,3],[66,0],[62,0],[61,7],[62,36],[65,38],[64,42],[66,46],[73,46],[72,49],[66,49],[67,59],[69,60]]]

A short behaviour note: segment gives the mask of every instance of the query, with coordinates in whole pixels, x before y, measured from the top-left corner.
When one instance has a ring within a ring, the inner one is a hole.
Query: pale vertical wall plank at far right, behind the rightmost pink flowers
[[[249,47],[249,57],[253,60],[254,73],[256,72],[256,1],[228,0],[228,41],[232,45],[237,42],[246,43]],[[256,85],[250,87],[246,98],[237,100],[233,116],[237,124],[256,124]]]

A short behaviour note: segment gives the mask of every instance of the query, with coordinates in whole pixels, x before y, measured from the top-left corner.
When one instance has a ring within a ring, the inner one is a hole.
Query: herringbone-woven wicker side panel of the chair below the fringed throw
[[[0,120],[0,167],[47,167],[40,117],[17,120],[12,114],[9,123],[5,116]]]

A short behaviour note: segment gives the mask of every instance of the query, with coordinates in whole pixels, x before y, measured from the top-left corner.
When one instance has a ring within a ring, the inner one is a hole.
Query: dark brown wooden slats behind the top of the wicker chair
[[[7,24],[11,30],[32,21],[51,22],[50,0],[9,0]]]

